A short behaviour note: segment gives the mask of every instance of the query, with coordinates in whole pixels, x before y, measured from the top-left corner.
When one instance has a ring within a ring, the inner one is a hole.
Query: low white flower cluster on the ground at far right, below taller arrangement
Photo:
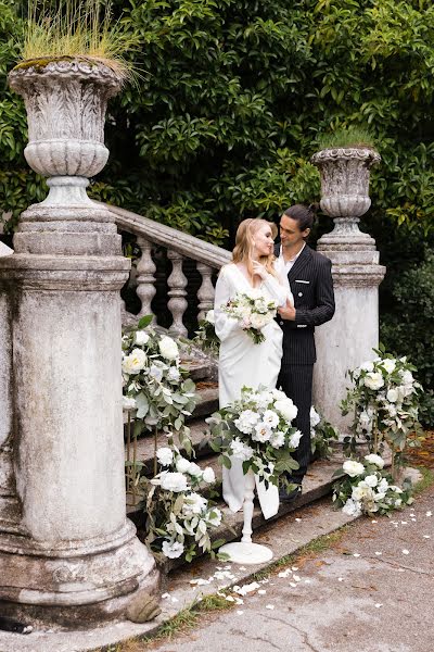
[[[360,462],[346,460],[334,476],[344,474],[333,485],[333,502],[349,516],[387,514],[413,502],[411,482],[403,489],[384,471],[384,460],[374,453]]]

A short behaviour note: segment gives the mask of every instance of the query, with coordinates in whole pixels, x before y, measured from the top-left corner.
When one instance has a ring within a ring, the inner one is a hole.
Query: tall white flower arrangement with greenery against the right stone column
[[[416,367],[407,358],[396,359],[374,350],[376,358],[348,372],[354,386],[341,404],[342,414],[354,413],[353,437],[344,439],[345,450],[355,454],[357,438],[368,441],[371,453],[392,449],[392,475],[406,447],[419,446],[412,434],[421,435],[418,422],[422,386],[414,379]]]

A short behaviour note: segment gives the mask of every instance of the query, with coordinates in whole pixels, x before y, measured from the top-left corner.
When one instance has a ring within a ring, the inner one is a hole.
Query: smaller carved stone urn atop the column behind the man
[[[339,241],[353,248],[365,249],[372,238],[358,228],[360,216],[371,205],[369,197],[370,168],[381,156],[367,147],[342,147],[324,149],[311,158],[321,175],[322,211],[334,218],[334,230],[321,238],[321,244]]]

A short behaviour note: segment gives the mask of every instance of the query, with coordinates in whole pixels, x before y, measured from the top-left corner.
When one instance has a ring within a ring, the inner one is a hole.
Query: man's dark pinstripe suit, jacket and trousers
[[[275,248],[279,255],[280,246]],[[295,322],[282,319],[278,323],[283,330],[283,356],[278,387],[298,408],[295,426],[303,432],[298,450],[294,455],[299,469],[291,479],[302,482],[310,459],[310,406],[312,392],[315,327],[329,322],[334,314],[333,279],[331,262],[306,244],[288,273],[294,294]]]

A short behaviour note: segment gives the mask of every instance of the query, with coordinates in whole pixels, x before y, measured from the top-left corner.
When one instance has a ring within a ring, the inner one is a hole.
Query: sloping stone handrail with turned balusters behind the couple
[[[159,224],[125,209],[110,206],[107,209],[115,215],[117,227],[120,231],[132,234],[142,255],[137,264],[137,294],[141,300],[141,310],[136,319],[142,315],[153,314],[152,299],[155,296],[156,265],[152,258],[153,247],[163,247],[167,250],[167,258],[171,261],[173,271],[167,278],[168,302],[167,308],[173,316],[169,331],[175,335],[187,335],[182,317],[187,310],[188,279],[182,271],[182,262],[190,259],[195,262],[196,269],[202,277],[202,285],[197,290],[199,314],[201,319],[214,304],[213,274],[231,260],[231,253],[221,247],[205,242],[194,236],[184,234],[175,228]],[[128,313],[127,313],[128,315]],[[156,317],[154,315],[154,324]]]

